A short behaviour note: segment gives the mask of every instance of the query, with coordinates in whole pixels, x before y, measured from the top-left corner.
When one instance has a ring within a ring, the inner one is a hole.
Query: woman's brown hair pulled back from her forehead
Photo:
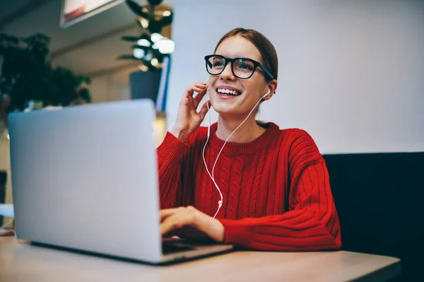
[[[245,28],[235,28],[233,30],[230,30],[228,33],[226,33],[221,39],[219,40],[218,44],[215,47],[218,49],[218,46],[227,38],[234,37],[234,36],[240,36],[245,38],[246,40],[249,40],[253,43],[254,46],[257,47],[259,52],[261,53],[262,57],[262,64],[266,67],[266,69],[269,69],[271,71],[271,74],[275,79],[278,77],[278,57],[276,48],[273,47],[271,41],[268,40],[268,38],[265,37],[262,33],[259,33],[257,30],[247,30]],[[269,80],[268,77],[266,77],[267,80]]]

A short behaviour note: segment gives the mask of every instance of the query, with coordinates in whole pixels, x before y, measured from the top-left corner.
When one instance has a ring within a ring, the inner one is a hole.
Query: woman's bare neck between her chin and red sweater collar
[[[219,115],[218,117],[218,127],[216,129],[216,136],[225,141],[227,140],[228,136],[232,134],[232,131],[235,131],[237,127],[245,120],[244,118],[228,118],[224,117],[223,115]],[[254,114],[252,113],[251,116],[246,120],[242,126],[237,129],[237,131],[234,132],[234,134],[231,135],[230,139],[228,139],[228,142],[234,142],[234,143],[247,143],[254,141],[254,139],[257,139],[261,134],[264,133],[266,129],[263,127],[260,127],[255,119]]]

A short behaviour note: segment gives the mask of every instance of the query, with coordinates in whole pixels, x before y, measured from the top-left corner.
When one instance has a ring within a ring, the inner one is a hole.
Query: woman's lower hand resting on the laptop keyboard
[[[193,206],[160,211],[160,232],[162,237],[224,241],[224,226]]]

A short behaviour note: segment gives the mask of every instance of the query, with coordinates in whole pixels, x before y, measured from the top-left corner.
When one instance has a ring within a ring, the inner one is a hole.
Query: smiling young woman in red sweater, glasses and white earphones
[[[311,136],[255,119],[278,84],[271,42],[236,28],[205,60],[208,83],[185,90],[158,147],[162,235],[247,249],[340,249],[329,175]],[[209,107],[219,114],[210,129],[200,127]]]

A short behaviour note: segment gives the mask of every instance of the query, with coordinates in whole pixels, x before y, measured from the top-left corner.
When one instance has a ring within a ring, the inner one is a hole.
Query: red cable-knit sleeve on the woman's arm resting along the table
[[[272,251],[341,249],[325,161],[312,138],[302,132],[290,149],[288,211],[260,218],[220,218],[226,244]]]

